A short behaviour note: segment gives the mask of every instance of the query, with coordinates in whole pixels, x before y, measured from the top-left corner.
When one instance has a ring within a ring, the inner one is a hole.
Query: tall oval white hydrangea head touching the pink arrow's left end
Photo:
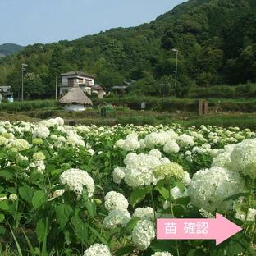
[[[132,231],[132,242],[139,250],[147,249],[151,241],[155,238],[155,229],[153,222],[144,219],[137,222]]]

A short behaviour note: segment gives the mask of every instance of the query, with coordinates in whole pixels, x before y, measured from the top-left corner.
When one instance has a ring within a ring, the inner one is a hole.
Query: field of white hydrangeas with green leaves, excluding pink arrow
[[[238,127],[0,121],[0,254],[255,255],[255,138]],[[243,231],[218,246],[156,239],[159,217],[215,213]]]

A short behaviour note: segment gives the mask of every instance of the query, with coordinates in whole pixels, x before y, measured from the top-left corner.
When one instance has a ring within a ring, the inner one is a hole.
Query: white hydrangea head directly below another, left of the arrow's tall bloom
[[[127,210],[112,210],[103,220],[103,226],[111,229],[117,226],[126,226],[130,222],[130,213]]]

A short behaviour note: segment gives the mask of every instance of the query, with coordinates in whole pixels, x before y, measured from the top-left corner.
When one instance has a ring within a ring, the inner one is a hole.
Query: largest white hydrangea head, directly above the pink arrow
[[[224,200],[240,192],[245,192],[245,182],[239,173],[223,167],[196,172],[187,190],[191,203],[208,212],[231,209],[233,202]]]

